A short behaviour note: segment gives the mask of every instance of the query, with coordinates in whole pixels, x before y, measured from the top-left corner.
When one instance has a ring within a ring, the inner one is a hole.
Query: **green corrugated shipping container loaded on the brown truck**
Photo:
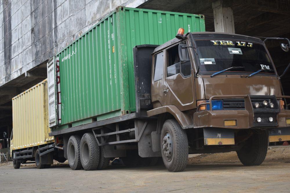
[[[180,27],[205,31],[204,16],[118,7],[57,54],[59,128],[136,111],[133,47],[165,43]]]

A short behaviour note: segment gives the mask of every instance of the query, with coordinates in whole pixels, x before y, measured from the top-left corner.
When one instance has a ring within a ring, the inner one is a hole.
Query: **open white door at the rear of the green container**
[[[50,58],[47,63],[47,90],[48,90],[48,122],[49,127],[57,125],[56,101],[56,57]]]

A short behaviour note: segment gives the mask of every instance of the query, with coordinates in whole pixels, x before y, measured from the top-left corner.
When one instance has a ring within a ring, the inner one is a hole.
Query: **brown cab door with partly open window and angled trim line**
[[[180,111],[186,111],[196,108],[194,73],[190,60],[180,61],[178,45],[165,51],[164,105],[175,105]]]

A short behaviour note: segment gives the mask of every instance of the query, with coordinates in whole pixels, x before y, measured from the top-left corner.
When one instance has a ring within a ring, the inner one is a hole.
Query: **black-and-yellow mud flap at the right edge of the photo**
[[[290,128],[269,129],[269,142],[290,141]]]

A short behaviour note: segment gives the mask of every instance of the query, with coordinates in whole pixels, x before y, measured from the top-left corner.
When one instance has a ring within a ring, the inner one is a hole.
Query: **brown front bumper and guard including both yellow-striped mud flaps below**
[[[210,110],[198,111],[193,114],[194,128],[204,128],[205,145],[234,144],[234,130],[235,129],[251,129],[251,128],[268,128],[269,142],[288,141],[290,140],[290,110],[285,109],[262,109],[257,110],[253,108],[252,98],[259,98],[263,96],[250,95],[219,95],[210,98],[209,102],[201,105],[209,104]],[[290,98],[290,96],[265,96],[266,98],[282,99]],[[244,98],[244,110],[212,110],[211,100],[224,98]],[[276,104],[277,105],[277,104]],[[274,115],[274,122],[257,123],[257,116],[272,116]],[[226,120],[235,120],[235,125],[226,126]],[[288,124],[287,124],[288,122]],[[223,139],[223,140],[222,140]]]

